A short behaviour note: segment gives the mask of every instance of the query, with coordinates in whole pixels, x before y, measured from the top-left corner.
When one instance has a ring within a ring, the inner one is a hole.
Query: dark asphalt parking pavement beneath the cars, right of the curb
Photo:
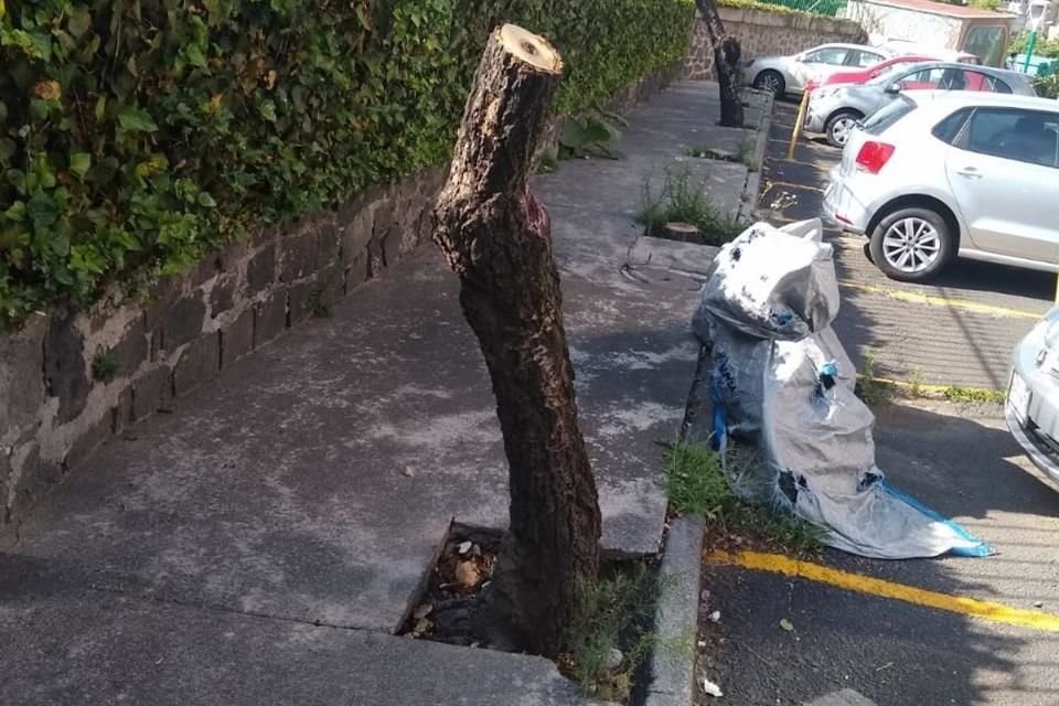
[[[794,109],[778,107],[762,179],[762,206],[789,220],[817,214],[819,190],[837,159],[837,151],[812,142],[798,147],[795,161],[782,159]],[[878,367],[896,377],[918,370],[938,384],[1002,387],[1008,351],[1055,289],[1051,277],[975,264],[958,264],[937,285],[899,285],[879,276],[856,242],[834,231],[827,236],[843,278],[885,289],[844,288],[836,330],[851,352],[871,350]],[[965,302],[996,311],[961,308]],[[820,564],[1029,611],[1045,616],[1042,624],[1047,614],[1059,616],[1059,489],[1025,460],[999,408],[917,400],[876,411],[877,460],[891,482],[986,539],[996,554],[881,561],[827,550]],[[1042,625],[708,561],[704,587],[704,614],[721,614],[703,623],[699,666],[725,692],[717,702],[700,695],[704,704],[1059,704],[1059,632]]]

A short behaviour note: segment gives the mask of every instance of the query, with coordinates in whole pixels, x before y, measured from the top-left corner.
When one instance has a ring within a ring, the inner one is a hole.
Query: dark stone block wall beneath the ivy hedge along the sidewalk
[[[628,108],[680,65],[616,96]],[[554,146],[561,120],[549,125]],[[430,239],[446,171],[370,191],[335,212],[269,228],[158,286],[143,304],[53,311],[0,335],[0,526],[109,437],[379,276]]]

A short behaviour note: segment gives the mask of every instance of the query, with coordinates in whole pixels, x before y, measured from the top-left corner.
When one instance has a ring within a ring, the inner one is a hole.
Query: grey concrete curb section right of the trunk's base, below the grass
[[[700,517],[680,517],[670,525],[659,574],[672,577],[654,611],[654,630],[662,645],[687,641],[687,650],[655,648],[648,660],[650,681],[643,706],[689,706],[695,697],[695,646],[698,634],[698,590],[703,564]]]

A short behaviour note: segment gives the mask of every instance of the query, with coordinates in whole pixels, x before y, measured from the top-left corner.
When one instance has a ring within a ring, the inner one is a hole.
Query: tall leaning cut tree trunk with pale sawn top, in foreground
[[[563,651],[578,582],[599,568],[600,514],[577,424],[550,220],[530,193],[533,156],[563,62],[507,24],[482,54],[434,239],[489,368],[504,437],[511,527],[493,578],[494,617],[524,649]]]

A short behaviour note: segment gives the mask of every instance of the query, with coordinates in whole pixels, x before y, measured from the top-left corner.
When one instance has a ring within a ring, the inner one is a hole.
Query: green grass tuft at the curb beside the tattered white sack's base
[[[820,549],[824,530],[806,520],[747,496],[767,496],[749,486],[758,464],[764,460],[748,449],[729,451],[726,459],[702,443],[674,443],[665,457],[670,505],[680,513],[695,514],[719,525],[726,533],[750,536],[793,552],[812,554]],[[736,489],[742,491],[737,493]]]

